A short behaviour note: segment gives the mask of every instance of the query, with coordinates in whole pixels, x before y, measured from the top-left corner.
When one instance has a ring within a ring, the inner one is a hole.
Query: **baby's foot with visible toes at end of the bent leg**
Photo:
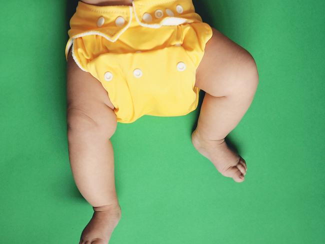
[[[246,162],[227,146],[224,139],[204,139],[195,129],[192,133],[192,143],[196,150],[208,158],[222,175],[231,177],[236,182],[244,180],[247,170]]]

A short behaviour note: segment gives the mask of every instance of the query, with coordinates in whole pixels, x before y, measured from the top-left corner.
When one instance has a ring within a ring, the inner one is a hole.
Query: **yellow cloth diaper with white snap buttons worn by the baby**
[[[144,114],[179,116],[198,104],[195,71],[212,29],[191,0],[133,0],[132,6],[78,2],[65,55],[96,77],[118,122]]]

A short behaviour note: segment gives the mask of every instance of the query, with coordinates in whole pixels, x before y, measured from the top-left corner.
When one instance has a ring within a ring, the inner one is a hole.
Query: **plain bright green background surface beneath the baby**
[[[1,2],[1,243],[78,243],[92,215],[66,141],[64,47],[75,5]],[[122,217],[110,243],[325,243],[325,1],[194,5],[257,63],[255,98],[227,137],[247,162],[245,181],[223,177],[192,146],[199,107],[118,123]]]

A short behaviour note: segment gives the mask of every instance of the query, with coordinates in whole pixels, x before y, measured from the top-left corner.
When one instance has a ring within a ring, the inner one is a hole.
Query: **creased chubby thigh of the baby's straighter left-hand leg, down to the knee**
[[[68,129],[86,130],[111,136],[116,129],[114,106],[107,91],[90,73],[82,71],[71,53],[66,76]]]

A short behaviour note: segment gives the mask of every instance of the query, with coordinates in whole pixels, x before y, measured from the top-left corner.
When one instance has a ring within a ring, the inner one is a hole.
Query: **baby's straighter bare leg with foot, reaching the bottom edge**
[[[82,71],[69,54],[69,159],[76,186],[94,210],[79,243],[106,244],[121,215],[114,184],[113,148],[109,139],[116,129],[112,108],[100,82]]]

